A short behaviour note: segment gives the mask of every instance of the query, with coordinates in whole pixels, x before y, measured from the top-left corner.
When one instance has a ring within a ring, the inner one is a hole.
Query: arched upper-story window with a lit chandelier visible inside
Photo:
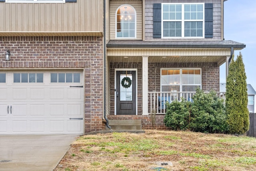
[[[128,4],[116,10],[116,38],[136,38],[136,10]]]

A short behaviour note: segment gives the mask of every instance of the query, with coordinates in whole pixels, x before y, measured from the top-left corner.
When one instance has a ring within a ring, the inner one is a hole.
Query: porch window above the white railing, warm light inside
[[[201,69],[161,69],[161,91],[196,91],[201,88]]]

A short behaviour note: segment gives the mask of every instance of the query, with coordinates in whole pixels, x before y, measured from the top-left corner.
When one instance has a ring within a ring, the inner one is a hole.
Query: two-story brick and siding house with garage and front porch
[[[0,0],[0,134],[150,128],[153,111],[167,129],[163,104],[220,91],[245,48],[224,40],[224,1]]]

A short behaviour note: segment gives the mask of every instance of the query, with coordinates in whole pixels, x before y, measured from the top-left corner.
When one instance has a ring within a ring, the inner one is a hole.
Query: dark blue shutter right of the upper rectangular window
[[[204,38],[213,38],[213,5],[204,4]]]

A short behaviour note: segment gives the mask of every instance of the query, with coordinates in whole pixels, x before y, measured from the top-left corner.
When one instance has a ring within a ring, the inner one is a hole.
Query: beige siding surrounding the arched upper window
[[[110,1],[110,40],[116,39],[116,10],[122,4],[129,4],[136,10],[136,40],[142,40],[142,1]]]

